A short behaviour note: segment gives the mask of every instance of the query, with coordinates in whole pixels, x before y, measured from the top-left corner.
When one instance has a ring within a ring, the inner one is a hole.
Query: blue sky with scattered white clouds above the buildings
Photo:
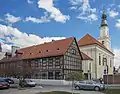
[[[120,0],[0,0],[0,42],[6,50],[86,33],[98,38],[103,10],[119,58]]]

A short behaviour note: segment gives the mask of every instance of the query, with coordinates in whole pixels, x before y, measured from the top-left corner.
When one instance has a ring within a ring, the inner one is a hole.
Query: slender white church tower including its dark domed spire
[[[102,14],[102,21],[100,25],[100,37],[99,41],[108,49],[111,51],[111,39],[109,35],[109,28],[107,24],[107,15],[105,12]]]

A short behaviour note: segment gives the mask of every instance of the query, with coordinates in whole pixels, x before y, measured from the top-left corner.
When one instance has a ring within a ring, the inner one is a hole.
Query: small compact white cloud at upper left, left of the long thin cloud
[[[16,23],[16,22],[19,22],[21,20],[20,17],[15,17],[9,13],[5,14],[5,20],[10,23],[10,24],[13,24],[13,23]]]

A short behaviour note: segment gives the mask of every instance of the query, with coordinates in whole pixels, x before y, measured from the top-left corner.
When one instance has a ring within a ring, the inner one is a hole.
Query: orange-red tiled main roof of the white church
[[[93,44],[99,45],[100,47],[104,48],[105,50],[107,50],[107,51],[109,51],[110,53],[113,54],[113,52],[111,52],[110,50],[108,50],[102,43],[100,43],[98,40],[96,40],[94,37],[92,37],[89,34],[86,34],[83,38],[81,38],[78,41],[78,46],[79,47],[81,47],[81,46],[87,46],[87,45],[93,45]]]

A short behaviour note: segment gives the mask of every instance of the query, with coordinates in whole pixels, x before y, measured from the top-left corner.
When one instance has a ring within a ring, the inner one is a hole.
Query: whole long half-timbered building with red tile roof
[[[82,71],[82,55],[76,39],[67,38],[6,54],[0,70],[2,77],[66,79],[68,73]]]

